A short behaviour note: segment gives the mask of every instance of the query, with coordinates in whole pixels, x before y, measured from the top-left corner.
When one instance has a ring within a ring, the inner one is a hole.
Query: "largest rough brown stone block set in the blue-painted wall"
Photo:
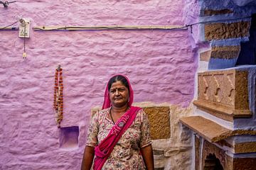
[[[250,22],[210,23],[205,25],[205,40],[221,40],[249,36]]]

